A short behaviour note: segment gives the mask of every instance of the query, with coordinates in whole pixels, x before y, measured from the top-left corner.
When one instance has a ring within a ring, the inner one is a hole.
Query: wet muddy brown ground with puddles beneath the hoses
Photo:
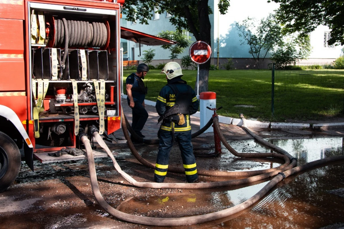
[[[227,131],[224,135],[236,150],[263,150],[240,127],[232,126],[232,129],[234,131]],[[272,139],[326,139],[336,136],[342,140],[341,136],[344,136],[342,130],[311,132],[255,129],[255,132]],[[198,137],[193,139],[193,145],[194,148],[214,148],[214,139],[211,136]],[[157,145],[135,146],[143,158],[155,163]],[[123,171],[137,181],[153,182],[154,171],[140,164],[126,144],[109,144],[109,147],[118,152],[116,160]],[[281,162],[272,159],[238,159],[225,148],[222,150],[223,154],[216,158],[197,158],[197,167],[224,171],[260,170],[277,167]],[[300,152],[299,163],[312,160],[309,153]],[[324,157],[342,154],[342,147],[323,153]],[[100,158],[95,161],[100,191],[107,203],[120,211],[140,216],[175,218],[211,213],[244,202],[269,181],[202,190],[145,189],[126,182],[115,171],[110,159]],[[341,163],[288,177],[254,206],[234,216],[174,228],[342,228],[344,167]],[[181,164],[180,151],[175,145],[171,152],[170,166]],[[50,164],[35,161],[34,166],[35,172],[32,172],[23,163],[15,183],[6,192],[0,193],[1,229],[162,228],[131,224],[109,216],[95,202],[86,160]],[[200,177],[201,182],[222,180],[228,178]],[[165,182],[186,182],[186,179],[184,174],[168,173]]]

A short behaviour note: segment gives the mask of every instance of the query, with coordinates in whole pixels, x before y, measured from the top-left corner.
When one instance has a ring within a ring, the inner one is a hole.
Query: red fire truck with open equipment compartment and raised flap
[[[22,159],[33,170],[34,158],[56,161],[49,152],[78,148],[86,126],[107,135],[121,128],[120,38],[173,44],[121,27],[123,3],[0,2],[0,191],[15,180]],[[63,156],[58,160],[85,158]]]

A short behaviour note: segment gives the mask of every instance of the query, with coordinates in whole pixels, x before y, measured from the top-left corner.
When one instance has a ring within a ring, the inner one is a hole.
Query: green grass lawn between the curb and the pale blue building
[[[125,70],[124,80],[133,71],[135,70]],[[223,106],[218,114],[228,117],[239,118],[239,113],[243,113],[247,118],[279,121],[291,118],[319,119],[324,116],[338,115],[343,109],[344,70],[331,70],[331,72],[323,70],[322,74],[318,71],[321,70],[317,70],[316,74],[312,70],[304,70],[302,73],[275,71],[276,99],[273,118],[271,118],[271,70],[209,71],[208,90],[216,92],[217,107]],[[145,84],[147,80],[148,87],[146,99],[154,102],[157,100],[160,89],[166,85],[165,75],[159,73],[160,70],[150,70],[144,79]],[[197,71],[183,70],[183,74],[182,79],[194,88]],[[331,103],[327,104],[329,109],[316,108],[310,111],[307,108],[308,105],[314,104],[314,101],[321,101],[319,98],[322,96],[326,98],[322,99],[322,103],[329,101],[326,96],[331,98]],[[302,112],[301,114],[299,110],[295,112],[295,104],[302,104],[305,114]],[[235,105],[255,107],[236,107]]]

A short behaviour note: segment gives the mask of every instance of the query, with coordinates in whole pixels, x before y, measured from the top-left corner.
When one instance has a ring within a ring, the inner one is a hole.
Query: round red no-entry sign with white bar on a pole
[[[204,41],[196,41],[190,46],[189,55],[192,61],[201,65],[210,59],[212,55],[212,49],[210,45]]]

